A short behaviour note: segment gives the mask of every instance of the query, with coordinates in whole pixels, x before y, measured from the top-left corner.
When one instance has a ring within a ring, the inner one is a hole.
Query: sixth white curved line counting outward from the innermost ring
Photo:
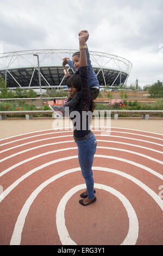
[[[94,133],[95,134],[95,133]],[[15,147],[11,147],[11,148],[7,148],[7,149],[4,149],[2,151],[0,151],[0,154],[6,152],[6,151],[9,151],[11,149],[15,149],[15,148],[20,148],[20,147],[23,147],[24,145],[28,145],[28,144],[32,144],[32,143],[36,143],[36,142],[41,142],[41,141],[47,141],[48,139],[55,139],[55,138],[65,138],[65,137],[70,137],[72,135],[65,135],[65,136],[57,136],[57,137],[50,137],[50,138],[45,138],[45,139],[38,139],[37,141],[32,141],[32,142],[27,142],[27,143],[24,143],[24,144],[20,144],[20,145],[17,145]],[[135,139],[135,138],[128,138],[128,137],[122,137],[122,136],[112,136],[112,135],[99,135],[99,134],[95,134],[95,136],[102,136],[102,137],[115,137],[115,138],[124,138],[124,139],[131,139],[131,140],[134,140],[134,141],[139,141],[139,142],[145,142],[145,143],[151,143],[151,144],[154,144],[154,145],[158,145],[160,147],[163,147],[163,144],[159,144],[159,143],[155,143],[155,142],[150,142],[150,141],[144,141],[143,139]]]

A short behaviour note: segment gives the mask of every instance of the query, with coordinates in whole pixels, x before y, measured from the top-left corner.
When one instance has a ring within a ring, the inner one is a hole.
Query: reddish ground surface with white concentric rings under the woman
[[[72,131],[0,141],[1,245],[162,245],[163,136],[93,131],[97,201],[85,190]]]

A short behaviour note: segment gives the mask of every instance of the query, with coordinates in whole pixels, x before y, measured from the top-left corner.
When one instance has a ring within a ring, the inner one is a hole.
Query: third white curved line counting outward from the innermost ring
[[[72,148],[74,149],[74,148]],[[69,150],[69,149],[68,149]],[[106,155],[95,155],[95,157],[102,157],[102,158],[107,158],[107,159],[115,159],[118,161],[122,161],[122,162],[127,162],[129,164],[133,164],[136,167],[142,168],[143,170],[147,170],[147,172],[152,173],[153,175],[157,176],[158,178],[160,178],[161,180],[163,180],[163,176],[159,173],[156,173],[154,170],[152,170],[151,168],[148,168],[146,166],[143,166],[142,164],[139,163],[135,163],[133,161],[129,161],[126,159],[122,159],[120,157],[115,157],[115,156],[106,156]],[[53,160],[51,162],[47,162],[47,163],[43,163],[41,164],[41,166],[38,166],[32,170],[30,170],[29,172],[27,172],[26,174],[22,175],[19,179],[17,179],[16,181],[14,181],[14,183],[12,183],[6,190],[3,191],[3,198],[0,198],[0,203],[2,202],[2,200],[8,196],[8,194],[18,185],[20,184],[24,179],[26,179],[28,176],[30,176],[31,174],[37,172],[37,170],[40,170],[42,168],[45,168],[47,166],[50,166],[53,163],[58,163],[58,162],[62,162],[62,161],[66,161],[66,160],[72,160],[72,159],[76,159],[78,158],[78,155],[76,156],[69,156],[69,157],[64,157],[61,159],[57,159],[57,160]],[[159,197],[159,196],[158,196]],[[160,197],[159,197],[160,198]],[[161,198],[160,198],[161,199]]]

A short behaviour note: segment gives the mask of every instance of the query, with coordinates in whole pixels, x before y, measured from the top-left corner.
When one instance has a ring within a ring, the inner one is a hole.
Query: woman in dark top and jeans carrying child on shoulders
[[[95,135],[89,129],[90,124],[90,115],[85,115],[85,113],[95,109],[95,105],[91,101],[91,94],[89,85],[87,83],[87,58],[86,58],[86,40],[89,34],[85,33],[82,36],[79,36],[79,49],[80,49],[80,70],[79,75],[73,75],[69,77],[69,74],[64,68],[64,73],[66,78],[68,78],[67,86],[68,86],[68,93],[70,95],[69,99],[72,99],[74,94],[82,90],[82,100],[78,102],[78,105],[71,109],[70,111],[70,118],[72,117],[73,111],[78,111],[80,114],[80,122],[78,129],[73,123],[74,131],[73,137],[74,141],[77,143],[78,146],[78,160],[80,164],[80,168],[82,170],[82,175],[85,179],[86,183],[86,191],[80,194],[80,197],[84,198],[79,200],[79,203],[86,206],[96,201],[95,197],[95,190],[94,190],[94,181],[93,181],[93,173],[92,173],[92,164],[93,164],[93,157],[96,152],[97,142]],[[86,123],[86,126],[83,129],[82,124]]]

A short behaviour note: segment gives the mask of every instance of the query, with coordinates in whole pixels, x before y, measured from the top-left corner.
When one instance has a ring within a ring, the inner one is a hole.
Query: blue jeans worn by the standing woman
[[[75,140],[75,142],[78,145],[78,160],[86,183],[87,197],[93,199],[95,194],[92,164],[97,147],[96,137],[92,133],[92,135],[84,141]]]

